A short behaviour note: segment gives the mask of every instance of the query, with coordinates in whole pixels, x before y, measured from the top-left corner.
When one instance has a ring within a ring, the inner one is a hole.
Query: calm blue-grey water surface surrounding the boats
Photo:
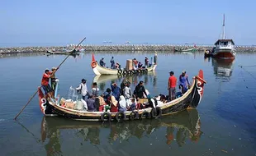
[[[126,59],[143,61],[154,53],[95,53],[99,61],[111,56],[121,65]],[[151,94],[167,94],[168,71],[190,78],[204,71],[205,91],[197,109],[161,119],[123,123],[75,122],[43,117],[37,97],[17,121],[46,67],[57,67],[65,56],[17,55],[0,58],[1,155],[256,155],[256,54],[238,54],[234,62],[204,59],[196,53],[159,53],[159,66],[147,76],[131,76],[131,88],[140,81]],[[56,73],[59,93],[67,98],[69,87],[82,78],[88,88],[96,80],[103,91],[122,77],[95,76],[91,54],[69,57]],[[243,65],[244,71],[239,65]]]

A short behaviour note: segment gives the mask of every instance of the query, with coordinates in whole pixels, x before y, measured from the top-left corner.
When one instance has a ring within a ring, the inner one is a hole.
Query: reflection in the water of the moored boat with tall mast
[[[233,72],[234,60],[211,58],[211,65],[216,75],[216,79],[229,81]]]

